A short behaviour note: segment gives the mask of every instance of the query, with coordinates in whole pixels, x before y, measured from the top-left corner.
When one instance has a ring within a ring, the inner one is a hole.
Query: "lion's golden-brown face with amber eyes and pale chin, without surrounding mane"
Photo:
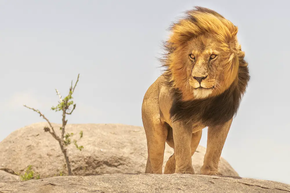
[[[182,50],[182,55],[186,58],[184,67],[187,77],[184,84],[195,99],[222,93],[238,73],[229,66],[232,63],[223,62],[230,53],[220,49],[219,45],[214,36],[201,35],[192,38]]]

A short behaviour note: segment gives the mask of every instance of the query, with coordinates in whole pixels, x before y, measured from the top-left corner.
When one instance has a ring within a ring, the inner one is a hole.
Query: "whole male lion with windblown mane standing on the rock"
[[[170,30],[160,59],[166,70],[142,103],[148,146],[145,173],[162,174],[166,141],[174,154],[164,174],[195,174],[191,156],[208,126],[200,173],[222,175],[222,148],[250,79],[238,27],[213,10],[195,7]]]

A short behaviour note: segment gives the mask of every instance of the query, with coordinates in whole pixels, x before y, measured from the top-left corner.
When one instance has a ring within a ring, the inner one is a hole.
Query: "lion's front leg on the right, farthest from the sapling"
[[[223,175],[218,172],[218,163],[232,121],[233,119],[229,120],[225,124],[208,128],[206,153],[204,156],[203,166],[200,169],[200,174]]]

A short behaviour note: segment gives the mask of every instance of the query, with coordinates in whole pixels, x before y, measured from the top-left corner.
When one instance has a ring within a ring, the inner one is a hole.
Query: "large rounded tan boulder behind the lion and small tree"
[[[12,132],[0,142],[0,168],[9,168],[23,174],[32,165],[40,178],[67,174],[64,156],[58,142],[47,132],[47,123],[35,123]],[[60,124],[53,124],[60,136]],[[68,146],[73,175],[88,176],[113,173],[144,173],[147,160],[147,143],[143,127],[122,124],[67,124],[66,132],[83,131],[78,145]],[[199,174],[206,148],[199,146],[193,155],[193,167]],[[173,149],[166,144],[164,166]],[[163,168],[164,168],[163,166]],[[238,176],[238,173],[223,158],[219,170],[224,175]]]

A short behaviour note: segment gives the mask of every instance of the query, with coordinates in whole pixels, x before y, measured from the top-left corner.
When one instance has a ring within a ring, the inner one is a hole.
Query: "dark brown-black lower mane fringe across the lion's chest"
[[[240,64],[247,64],[242,59]],[[222,94],[199,100],[182,101],[182,95],[173,89],[173,105],[170,109],[174,121],[202,122],[206,126],[223,124],[234,117],[250,80],[247,65],[239,66],[238,77]],[[236,82],[238,81],[238,83]]]

